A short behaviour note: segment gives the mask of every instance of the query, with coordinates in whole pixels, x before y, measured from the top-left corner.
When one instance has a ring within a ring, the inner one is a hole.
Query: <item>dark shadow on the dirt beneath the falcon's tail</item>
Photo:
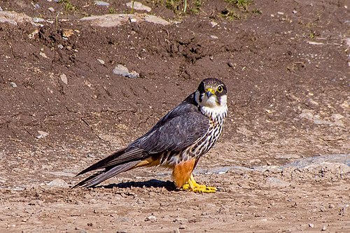
[[[168,191],[176,191],[177,188],[174,185],[174,182],[172,181],[159,181],[156,179],[152,179],[149,181],[129,181],[129,182],[122,182],[122,183],[113,183],[110,185],[101,185],[99,186],[101,188],[165,188]]]

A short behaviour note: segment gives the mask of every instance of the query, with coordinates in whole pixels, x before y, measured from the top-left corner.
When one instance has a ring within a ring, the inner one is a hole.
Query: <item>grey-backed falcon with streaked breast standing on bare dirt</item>
[[[176,188],[192,192],[216,192],[193,178],[200,157],[218,141],[228,115],[227,89],[217,78],[202,80],[197,90],[169,111],[146,134],[129,146],[92,164],[97,173],[75,187],[94,187],[107,179],[137,167],[162,166],[172,169]]]

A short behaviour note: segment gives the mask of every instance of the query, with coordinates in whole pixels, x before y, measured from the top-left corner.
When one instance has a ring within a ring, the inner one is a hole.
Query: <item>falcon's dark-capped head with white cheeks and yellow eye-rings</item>
[[[219,111],[225,108],[227,111],[227,94],[225,83],[217,78],[202,80],[195,92],[195,100],[200,107]]]

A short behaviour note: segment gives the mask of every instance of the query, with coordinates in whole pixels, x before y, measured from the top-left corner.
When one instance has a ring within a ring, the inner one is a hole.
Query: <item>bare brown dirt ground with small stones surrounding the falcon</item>
[[[349,1],[108,2],[0,1],[0,232],[350,232]],[[138,18],[81,20],[109,13]],[[220,192],[69,188],[209,77],[230,113],[195,177]]]

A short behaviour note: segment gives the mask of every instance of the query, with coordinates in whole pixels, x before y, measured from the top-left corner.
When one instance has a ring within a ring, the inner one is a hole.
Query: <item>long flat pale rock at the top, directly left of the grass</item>
[[[89,17],[83,17],[80,20],[90,21],[93,26],[99,27],[117,27],[127,22],[131,22],[132,19],[137,22],[153,22],[155,24],[169,25],[170,22],[163,20],[161,17],[155,15],[133,15],[133,14],[113,14],[113,15],[94,15]]]

